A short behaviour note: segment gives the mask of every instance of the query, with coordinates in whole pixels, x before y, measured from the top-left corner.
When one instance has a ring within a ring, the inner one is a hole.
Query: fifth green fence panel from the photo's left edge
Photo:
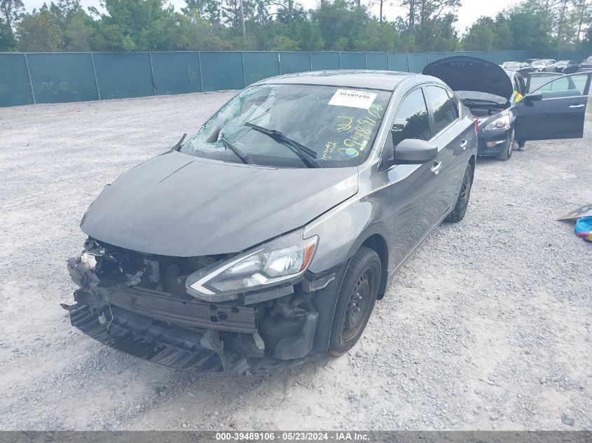
[[[200,57],[204,91],[245,87],[242,52],[200,52]]]

